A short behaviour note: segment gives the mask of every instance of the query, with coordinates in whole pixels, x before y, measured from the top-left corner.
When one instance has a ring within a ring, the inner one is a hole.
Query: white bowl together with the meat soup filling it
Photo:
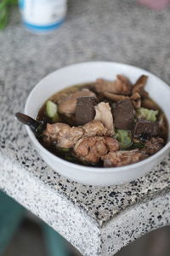
[[[124,183],[167,154],[169,97],[167,84],[138,67],[80,63],[51,73],[31,91],[25,113],[47,125],[42,137],[26,130],[43,160],[65,177]]]

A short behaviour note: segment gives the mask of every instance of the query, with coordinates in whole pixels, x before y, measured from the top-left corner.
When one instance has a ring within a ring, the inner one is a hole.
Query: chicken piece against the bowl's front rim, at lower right
[[[147,158],[147,155],[140,152],[137,148],[110,152],[109,154],[105,154],[101,159],[104,161],[104,167],[118,167],[137,163],[145,158]]]

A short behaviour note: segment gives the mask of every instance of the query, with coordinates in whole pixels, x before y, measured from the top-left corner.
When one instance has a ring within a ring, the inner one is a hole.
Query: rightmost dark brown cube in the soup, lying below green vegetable
[[[142,134],[147,134],[150,136],[158,135],[160,127],[158,123],[152,123],[146,120],[140,120],[136,123],[133,131],[135,137],[139,137]]]

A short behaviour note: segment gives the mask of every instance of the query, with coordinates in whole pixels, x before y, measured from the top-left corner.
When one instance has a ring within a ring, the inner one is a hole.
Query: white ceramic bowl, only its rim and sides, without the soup
[[[113,80],[116,78],[116,74],[127,76],[133,83],[140,75],[148,75],[149,80],[146,85],[146,90],[150,93],[152,99],[161,106],[164,113],[166,113],[170,127],[170,88],[167,84],[143,69],[115,62],[96,61],[79,63],[61,68],[54,73],[49,74],[45,79],[42,79],[33,90],[31,90],[26,101],[25,113],[32,118],[36,118],[38,110],[42,107],[42,104],[49,96],[54,95],[57,91],[73,84],[92,82],[98,78]],[[120,184],[141,177],[156,166],[165,157],[170,148],[168,139],[166,146],[158,153],[150,156],[146,160],[142,160],[129,166],[115,168],[79,166],[51,154],[37,141],[37,138],[29,127],[26,127],[26,131],[31,138],[31,142],[37,149],[37,152],[42,156],[42,159],[56,172],[79,183],[91,185]],[[168,134],[170,134],[169,131]]]

